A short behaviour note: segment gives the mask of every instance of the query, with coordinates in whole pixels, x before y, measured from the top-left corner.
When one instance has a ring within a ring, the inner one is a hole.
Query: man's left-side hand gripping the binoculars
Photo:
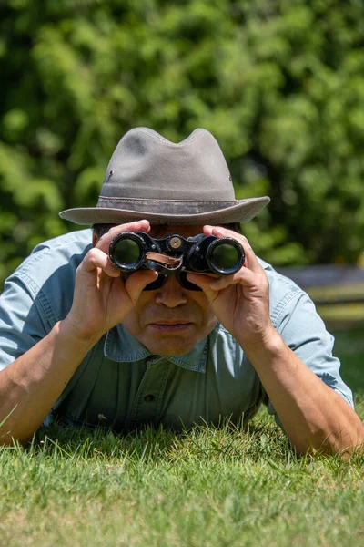
[[[138,270],[126,281],[108,257],[111,240],[121,232],[149,232],[148,221],[111,228],[85,256],[76,271],[72,308],[63,328],[77,338],[96,344],[113,326],[122,323],[147,284],[157,279],[152,270]]]

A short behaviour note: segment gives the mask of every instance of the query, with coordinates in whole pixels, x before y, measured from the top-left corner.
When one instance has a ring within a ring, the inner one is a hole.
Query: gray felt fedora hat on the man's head
[[[67,209],[77,224],[147,219],[153,224],[248,222],[268,197],[236,200],[217,140],[195,129],[175,144],[153,129],[131,129],[116,146],[96,207]]]

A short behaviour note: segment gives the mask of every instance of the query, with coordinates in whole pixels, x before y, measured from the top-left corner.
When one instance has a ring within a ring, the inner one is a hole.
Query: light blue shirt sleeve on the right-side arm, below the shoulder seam
[[[333,356],[334,337],[326,330],[325,324],[316,311],[308,294],[301,290],[291,293],[285,305],[279,305],[278,313],[273,312],[274,326],[288,347],[327,386],[334,389],[354,408],[352,392],[339,374],[339,359]],[[276,415],[268,401],[269,414]],[[276,421],[281,426],[276,415]]]

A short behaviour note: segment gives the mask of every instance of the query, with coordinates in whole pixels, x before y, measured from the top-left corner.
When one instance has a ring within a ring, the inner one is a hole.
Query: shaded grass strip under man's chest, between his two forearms
[[[263,413],[263,411],[262,411]],[[176,432],[143,426],[125,434],[105,428],[73,428],[52,424],[40,428],[24,448],[28,453],[55,452],[77,459],[278,459],[297,458],[287,437],[271,417],[237,426],[228,419],[220,427],[196,425]]]

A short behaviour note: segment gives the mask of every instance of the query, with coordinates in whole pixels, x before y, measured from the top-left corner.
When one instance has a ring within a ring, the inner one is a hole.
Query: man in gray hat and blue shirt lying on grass
[[[0,305],[2,443],[53,418],[121,431],[190,427],[254,415],[266,401],[298,453],[341,452],[364,428],[331,354],[332,338],[297,285],[234,231],[268,198],[237,201],[217,141],[197,129],[174,144],[146,128],[120,140],[95,208],[60,213],[94,224],[39,245]],[[126,279],[111,263],[120,232],[232,237],[236,274],[188,273],[197,290],[154,270]],[[198,290],[202,289],[202,290]]]

